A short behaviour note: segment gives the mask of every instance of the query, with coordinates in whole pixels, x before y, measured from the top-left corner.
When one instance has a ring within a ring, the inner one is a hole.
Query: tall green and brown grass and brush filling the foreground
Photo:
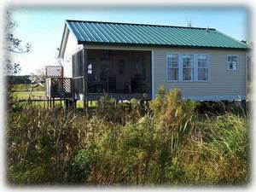
[[[161,89],[146,106],[102,97],[90,115],[29,106],[9,112],[9,183],[248,183],[246,114],[199,118],[198,103],[181,98]]]

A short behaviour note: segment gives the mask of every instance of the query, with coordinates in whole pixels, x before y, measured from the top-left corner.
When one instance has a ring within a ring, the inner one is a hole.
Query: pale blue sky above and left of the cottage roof
[[[57,65],[57,48],[65,20],[99,20],[171,26],[216,28],[238,40],[250,41],[250,13],[245,7],[10,7],[18,23],[13,33],[32,44],[27,54],[13,55],[20,62],[20,75],[38,73]]]

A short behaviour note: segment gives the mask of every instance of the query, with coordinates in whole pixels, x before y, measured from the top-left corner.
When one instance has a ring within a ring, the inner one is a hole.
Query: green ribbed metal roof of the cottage
[[[212,28],[157,26],[67,20],[79,44],[247,49],[247,45]]]

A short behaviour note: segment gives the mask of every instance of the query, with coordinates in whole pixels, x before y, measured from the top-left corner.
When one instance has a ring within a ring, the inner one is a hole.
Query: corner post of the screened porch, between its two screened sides
[[[88,112],[88,78],[87,78],[87,49],[83,49],[83,93],[84,93],[84,111]]]

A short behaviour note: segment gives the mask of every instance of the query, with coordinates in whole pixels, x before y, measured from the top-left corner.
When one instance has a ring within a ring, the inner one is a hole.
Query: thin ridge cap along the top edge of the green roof
[[[123,24],[123,25],[135,25],[135,26],[160,26],[160,27],[173,27],[173,28],[186,28],[186,29],[199,29],[199,30],[212,30],[215,31],[215,28],[206,28],[206,27],[194,27],[194,26],[167,26],[167,25],[155,25],[155,24],[145,24],[145,23],[125,23],[125,22],[112,22],[112,21],[99,21],[99,20],[66,20],[76,21],[76,22],[90,22],[90,23],[108,23],[108,24]]]

